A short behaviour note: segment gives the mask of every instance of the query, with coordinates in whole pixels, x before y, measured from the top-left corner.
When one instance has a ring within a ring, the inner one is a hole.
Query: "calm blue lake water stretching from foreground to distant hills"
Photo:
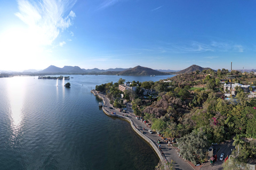
[[[158,81],[173,75],[70,75],[0,79],[0,169],[154,169],[159,159],[129,123],[109,117],[91,94],[96,85]]]

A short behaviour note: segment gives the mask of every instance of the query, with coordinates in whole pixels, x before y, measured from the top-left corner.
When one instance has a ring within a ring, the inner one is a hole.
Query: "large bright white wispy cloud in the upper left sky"
[[[72,20],[76,16],[70,11],[76,0],[42,0],[34,3],[18,0],[17,2],[19,12],[15,15],[29,26],[31,34],[39,39],[42,45],[51,45],[61,30],[72,25]]]

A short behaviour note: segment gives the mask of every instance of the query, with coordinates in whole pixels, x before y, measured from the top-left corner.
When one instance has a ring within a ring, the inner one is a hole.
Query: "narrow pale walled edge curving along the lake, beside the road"
[[[102,96],[100,96],[99,94],[95,93],[95,90],[91,90],[91,92],[92,92],[92,94],[93,94],[94,96],[97,96],[97,97],[99,97],[100,99],[103,100],[102,111],[103,111],[106,115],[112,116],[112,117],[122,118],[122,119],[124,119],[125,121],[130,122],[132,129],[133,129],[143,140],[145,140],[146,142],[149,143],[149,145],[154,149],[154,151],[155,151],[156,155],[158,156],[158,158],[160,159],[160,161],[161,161],[163,164],[165,164],[165,163],[168,162],[168,160],[166,159],[166,157],[165,157],[165,156],[162,156],[162,154],[161,154],[161,152],[159,151],[159,149],[157,148],[155,142],[154,142],[152,139],[148,138],[145,134],[141,133],[141,132],[136,128],[134,122],[133,122],[129,117],[122,116],[122,115],[118,115],[118,114],[110,114],[110,113],[109,113],[108,111],[106,111],[106,109],[104,108],[104,106],[106,106],[106,101],[105,101],[105,99],[104,99]]]

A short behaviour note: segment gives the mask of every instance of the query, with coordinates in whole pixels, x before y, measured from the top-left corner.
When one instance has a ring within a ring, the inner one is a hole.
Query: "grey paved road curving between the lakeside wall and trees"
[[[161,143],[160,143],[161,149],[164,152],[164,155],[169,162],[171,162],[171,159],[174,160],[175,169],[186,169],[186,170],[194,169],[193,167],[191,167],[191,165],[188,164],[188,162],[186,162],[185,160],[183,160],[183,158],[178,156],[177,151],[175,149],[173,148],[171,149],[170,147],[168,147],[167,143],[163,142],[162,138],[159,137],[157,133],[154,132],[153,134],[151,134],[148,132],[150,128],[147,127],[146,123],[142,123],[140,120],[137,120],[137,118],[135,118],[135,115],[132,112],[131,103],[126,104],[127,113],[122,113],[122,112],[119,112],[119,109],[115,109],[113,105],[109,103],[108,98],[106,98],[104,95],[100,95],[100,96],[103,97],[106,102],[105,106],[103,106],[106,111],[108,111],[109,113],[115,112],[118,115],[127,114],[128,117],[134,122],[134,124],[137,125],[138,129],[142,130],[143,134],[145,134],[148,138],[153,140],[156,143],[156,145],[158,144],[157,140],[158,139],[161,140]],[[114,109],[110,109],[109,107],[113,107]]]

